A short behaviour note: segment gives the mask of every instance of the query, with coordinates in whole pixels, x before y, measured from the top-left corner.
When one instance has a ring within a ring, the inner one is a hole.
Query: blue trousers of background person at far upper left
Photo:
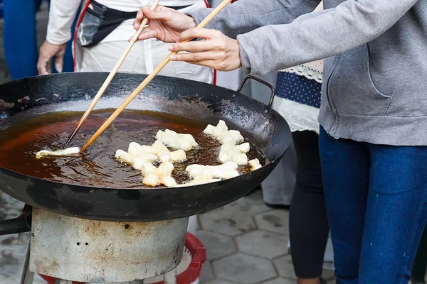
[[[12,80],[38,75],[36,11],[42,0],[4,0],[4,53]],[[72,34],[77,17],[73,23]],[[64,55],[63,72],[73,72],[72,40]],[[52,67],[55,72],[55,67]]]

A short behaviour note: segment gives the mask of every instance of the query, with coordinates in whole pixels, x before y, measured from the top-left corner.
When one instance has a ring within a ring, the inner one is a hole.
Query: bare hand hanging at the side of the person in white
[[[48,75],[51,74],[51,61],[53,56],[55,56],[55,68],[56,71],[62,72],[64,65],[64,54],[65,48],[67,48],[67,43],[60,45],[54,45],[49,43],[47,40],[41,45],[40,53],[38,55],[37,70],[38,75]]]

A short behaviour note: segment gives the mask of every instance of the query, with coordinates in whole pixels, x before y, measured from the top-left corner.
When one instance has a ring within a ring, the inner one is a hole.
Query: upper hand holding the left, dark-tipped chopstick
[[[141,26],[144,16],[149,18],[149,25],[139,35],[139,40],[157,38],[165,43],[176,43],[182,31],[196,26],[193,18],[174,9],[157,6],[154,11],[151,11],[149,6],[144,6],[139,9],[137,18],[135,18],[135,30]]]

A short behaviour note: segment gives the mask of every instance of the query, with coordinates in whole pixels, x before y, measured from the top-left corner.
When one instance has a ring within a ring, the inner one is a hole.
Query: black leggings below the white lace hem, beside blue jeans
[[[292,263],[298,278],[322,275],[329,235],[318,138],[313,131],[292,133],[297,180],[290,204],[289,231]]]

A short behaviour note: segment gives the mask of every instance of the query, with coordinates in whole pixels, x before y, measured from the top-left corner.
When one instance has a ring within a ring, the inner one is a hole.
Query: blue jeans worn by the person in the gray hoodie
[[[427,147],[335,139],[320,158],[338,284],[408,284],[427,221]]]

